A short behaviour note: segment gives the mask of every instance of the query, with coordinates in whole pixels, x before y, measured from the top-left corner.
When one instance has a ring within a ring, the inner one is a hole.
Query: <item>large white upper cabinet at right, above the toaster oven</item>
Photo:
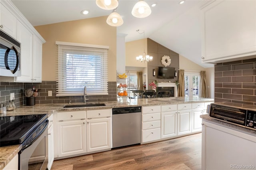
[[[256,54],[255,0],[214,1],[204,4],[201,12],[203,63],[249,59]]]

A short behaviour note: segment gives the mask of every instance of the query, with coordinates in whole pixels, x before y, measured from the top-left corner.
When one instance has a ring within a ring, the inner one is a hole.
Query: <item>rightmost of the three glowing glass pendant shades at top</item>
[[[148,4],[140,0],[137,2],[134,7],[132,8],[132,15],[137,18],[145,18],[151,14],[151,9]]]

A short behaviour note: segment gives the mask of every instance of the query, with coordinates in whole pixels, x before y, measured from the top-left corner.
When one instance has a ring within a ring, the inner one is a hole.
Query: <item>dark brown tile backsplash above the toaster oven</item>
[[[256,58],[218,63],[215,69],[214,101],[256,105]]]

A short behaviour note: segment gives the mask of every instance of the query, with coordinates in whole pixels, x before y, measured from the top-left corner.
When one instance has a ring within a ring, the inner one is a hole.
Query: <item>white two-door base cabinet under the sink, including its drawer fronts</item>
[[[55,158],[67,158],[112,148],[112,109],[59,112]]]

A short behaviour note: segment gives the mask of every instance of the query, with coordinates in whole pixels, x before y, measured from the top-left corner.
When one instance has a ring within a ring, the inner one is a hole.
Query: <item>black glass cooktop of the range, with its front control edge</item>
[[[22,144],[47,114],[0,117],[0,146]]]

